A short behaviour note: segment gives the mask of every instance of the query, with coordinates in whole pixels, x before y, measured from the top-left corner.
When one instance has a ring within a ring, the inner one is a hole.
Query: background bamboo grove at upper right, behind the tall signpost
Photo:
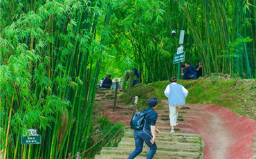
[[[151,1],[154,7],[141,1],[136,3],[135,6],[122,1],[121,7],[113,11],[115,16],[110,27],[114,33],[108,45],[117,59],[109,62],[122,66],[130,58],[139,68],[141,82],[177,76],[178,64],[173,64],[173,57],[180,46],[180,29],[185,30],[185,62],[195,66],[201,59],[203,75],[228,73],[243,77],[245,73],[249,78],[243,46],[246,42],[250,72],[256,77],[254,0]],[[172,30],[176,30],[176,36],[172,36]],[[102,73],[117,68],[117,65],[109,66],[109,62],[103,64],[106,69]]]

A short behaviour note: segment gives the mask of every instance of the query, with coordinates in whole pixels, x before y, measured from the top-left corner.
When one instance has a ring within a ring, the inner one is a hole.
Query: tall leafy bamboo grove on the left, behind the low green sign
[[[110,14],[109,1],[1,1],[3,158],[66,158],[87,148]],[[28,129],[41,144],[21,144]]]

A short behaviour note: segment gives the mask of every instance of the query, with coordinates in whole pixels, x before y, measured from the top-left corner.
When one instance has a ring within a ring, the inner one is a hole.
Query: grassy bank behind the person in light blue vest
[[[169,81],[149,84],[162,100]],[[256,89],[254,79],[197,79],[178,80],[178,84],[188,89],[186,103],[215,104],[250,118],[256,119]]]

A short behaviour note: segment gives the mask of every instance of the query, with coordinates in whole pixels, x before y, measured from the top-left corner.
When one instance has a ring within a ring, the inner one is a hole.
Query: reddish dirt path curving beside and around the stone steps
[[[116,109],[112,113],[112,101],[100,101],[104,116],[111,122],[124,121],[129,126],[132,106],[118,105],[125,109]],[[163,100],[163,109],[167,109],[167,100]],[[205,159],[249,159],[253,158],[253,135],[255,135],[255,121],[247,117],[239,117],[229,109],[215,105],[187,104],[190,109],[181,110],[185,121],[180,121],[177,133],[201,134],[205,143],[203,158]],[[129,109],[127,109],[129,107]],[[158,116],[163,113],[156,110]],[[165,113],[166,114],[166,113]],[[159,121],[161,121],[159,119]],[[167,121],[168,122],[168,121]],[[159,123],[158,123],[159,124]],[[167,125],[167,127],[170,127]]]

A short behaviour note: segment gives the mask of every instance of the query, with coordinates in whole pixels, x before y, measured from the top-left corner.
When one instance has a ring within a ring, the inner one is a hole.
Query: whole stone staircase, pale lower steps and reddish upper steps
[[[102,101],[104,99],[100,99]],[[102,147],[100,154],[95,156],[95,159],[103,158],[128,158],[129,154],[135,149],[133,129],[129,129],[133,106],[126,106],[118,103],[116,111],[112,112],[113,100],[104,100],[104,117],[108,116],[111,122],[124,122],[127,125],[124,136],[119,142],[118,147]],[[156,128],[161,131],[156,135],[156,145],[158,147],[154,159],[169,159],[169,158],[202,158],[203,156],[203,141],[201,135],[190,134],[187,130],[191,127],[190,123],[186,122],[186,109],[179,111],[179,126],[175,128],[175,133],[170,133],[170,119],[167,102],[164,101],[161,108],[156,109],[158,120]],[[187,108],[189,109],[189,108]],[[181,133],[180,133],[181,132]],[[145,159],[149,147],[144,144],[143,152],[136,158]]]

